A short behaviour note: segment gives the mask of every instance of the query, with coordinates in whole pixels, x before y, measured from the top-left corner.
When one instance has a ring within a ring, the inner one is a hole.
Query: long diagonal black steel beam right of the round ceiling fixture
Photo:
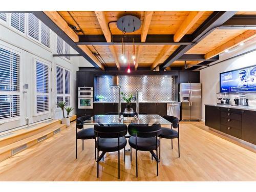
[[[164,69],[170,66],[174,61],[184,55],[188,50],[193,48],[198,42],[205,38],[212,31],[220,27],[225,23],[230,17],[236,14],[237,11],[215,11],[212,13],[202,25],[191,35],[193,37],[192,42],[195,44],[181,45],[178,49],[174,51],[160,66]]]

